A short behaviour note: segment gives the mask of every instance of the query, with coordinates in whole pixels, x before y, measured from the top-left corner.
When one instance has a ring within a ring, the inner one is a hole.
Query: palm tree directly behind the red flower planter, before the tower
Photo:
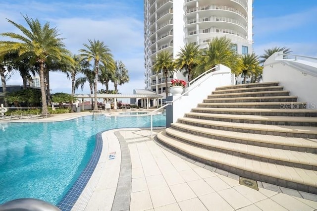
[[[188,76],[188,81],[192,80],[195,75],[195,68],[201,63],[202,54],[199,46],[193,43],[186,44],[184,48],[180,49],[175,60],[176,68],[180,69],[184,76]]]

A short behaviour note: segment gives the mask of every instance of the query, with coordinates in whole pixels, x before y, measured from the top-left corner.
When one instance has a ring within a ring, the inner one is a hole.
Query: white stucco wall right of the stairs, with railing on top
[[[317,59],[316,62],[283,59],[274,53],[264,63],[263,82],[279,82],[297,101],[306,102],[307,108],[317,109]]]

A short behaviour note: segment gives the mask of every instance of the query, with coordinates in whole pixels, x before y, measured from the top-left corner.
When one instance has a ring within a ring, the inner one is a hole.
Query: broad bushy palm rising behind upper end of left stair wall
[[[208,48],[203,50],[203,62],[198,67],[199,74],[215,67],[216,64],[223,64],[236,72],[238,68],[238,55],[232,49],[231,40],[226,37],[215,37],[208,43]]]

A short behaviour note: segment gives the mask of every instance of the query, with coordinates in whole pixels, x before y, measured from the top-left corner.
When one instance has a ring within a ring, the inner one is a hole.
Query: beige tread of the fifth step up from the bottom
[[[282,122],[317,122],[317,117],[310,116],[261,116],[261,115],[242,115],[242,114],[219,114],[219,113],[199,113],[188,112],[188,115],[209,116],[227,119],[245,119],[259,121],[282,121]]]

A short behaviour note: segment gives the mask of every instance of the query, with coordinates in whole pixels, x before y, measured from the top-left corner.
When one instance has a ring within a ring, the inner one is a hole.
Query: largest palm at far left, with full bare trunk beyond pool
[[[19,40],[15,41],[0,41],[0,54],[8,52],[18,52],[21,58],[32,57],[40,66],[40,83],[41,83],[41,95],[42,95],[42,114],[47,114],[47,99],[44,82],[44,67],[45,62],[50,57],[51,59],[61,60],[65,58],[65,55],[69,52],[64,48],[65,45],[62,42],[62,38],[58,38],[60,35],[56,28],[51,28],[49,22],[43,26],[38,19],[32,19],[28,16],[23,16],[30,30],[15,23],[9,19],[7,21],[18,28],[23,34],[16,33],[1,33],[0,35],[9,37],[11,39]]]

